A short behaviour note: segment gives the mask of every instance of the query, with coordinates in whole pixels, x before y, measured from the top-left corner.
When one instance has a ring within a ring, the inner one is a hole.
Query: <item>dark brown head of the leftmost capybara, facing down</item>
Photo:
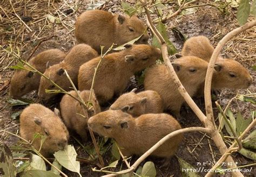
[[[29,70],[17,70],[11,78],[10,97],[17,99],[23,95],[37,90],[40,76]]]

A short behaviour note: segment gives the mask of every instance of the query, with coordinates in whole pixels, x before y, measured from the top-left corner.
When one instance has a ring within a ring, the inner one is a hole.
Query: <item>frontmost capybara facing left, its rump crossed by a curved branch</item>
[[[88,125],[101,136],[115,139],[127,157],[132,154],[142,155],[161,138],[181,129],[176,119],[167,114],[145,114],[133,118],[121,110],[100,112],[89,119]],[[152,155],[170,158],[182,139],[182,134],[170,138]]]

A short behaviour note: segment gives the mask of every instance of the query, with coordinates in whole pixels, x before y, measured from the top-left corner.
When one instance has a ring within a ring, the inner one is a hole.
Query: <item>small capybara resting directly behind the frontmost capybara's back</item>
[[[111,105],[110,110],[122,109],[133,117],[163,112],[163,100],[156,91],[146,90],[136,94],[136,90],[133,89],[129,93],[119,96]]]

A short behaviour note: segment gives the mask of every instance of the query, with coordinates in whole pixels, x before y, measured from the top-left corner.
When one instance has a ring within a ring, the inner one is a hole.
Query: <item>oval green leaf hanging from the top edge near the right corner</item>
[[[247,22],[250,15],[250,0],[242,0],[237,11],[237,20],[240,26]]]

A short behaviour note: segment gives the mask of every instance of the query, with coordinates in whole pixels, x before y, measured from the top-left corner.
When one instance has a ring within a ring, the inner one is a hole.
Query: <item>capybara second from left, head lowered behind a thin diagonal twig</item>
[[[66,55],[65,59],[62,62],[46,69],[44,75],[49,77],[53,82],[55,82],[65,91],[69,91],[71,90],[72,86],[64,70],[66,69],[72,82],[75,84],[75,86],[77,86],[77,76],[79,67],[83,65],[83,63],[93,58],[96,58],[97,56],[98,53],[89,45],[75,45],[70,49],[70,52]],[[38,96],[42,100],[49,100],[51,97],[56,95],[45,93],[45,89],[55,90],[57,88],[53,84],[51,84],[47,79],[42,77],[38,90]]]

